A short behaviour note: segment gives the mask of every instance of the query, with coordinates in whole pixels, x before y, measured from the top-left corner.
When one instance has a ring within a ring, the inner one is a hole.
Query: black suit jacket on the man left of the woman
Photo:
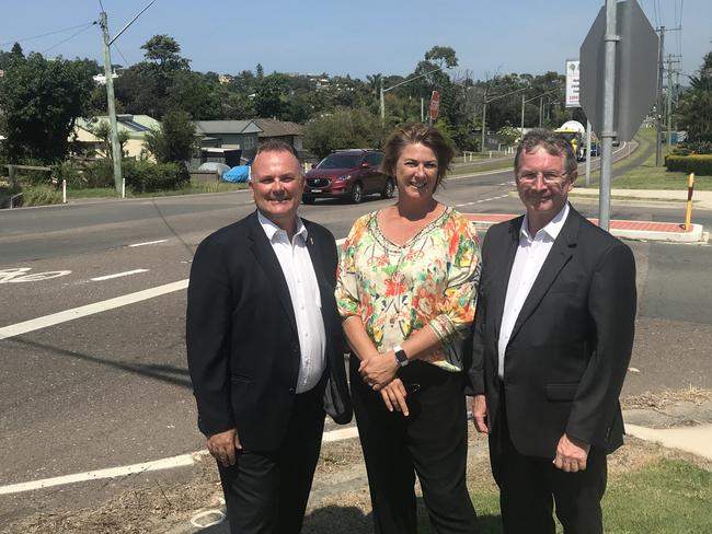
[[[326,333],[324,409],[348,422],[344,340],[334,301],[334,236],[303,220]],[[188,369],[198,428],[237,428],[245,449],[274,450],[296,397],[300,348],[287,281],[257,212],[206,237],[193,259],[186,316]]]

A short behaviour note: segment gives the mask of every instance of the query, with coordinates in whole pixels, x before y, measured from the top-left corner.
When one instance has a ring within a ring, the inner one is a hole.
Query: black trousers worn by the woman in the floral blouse
[[[399,371],[410,416],[390,413],[351,358],[351,386],[377,534],[417,532],[415,475],[423,488],[433,532],[476,532],[476,515],[466,486],[467,413],[462,375],[414,361]]]

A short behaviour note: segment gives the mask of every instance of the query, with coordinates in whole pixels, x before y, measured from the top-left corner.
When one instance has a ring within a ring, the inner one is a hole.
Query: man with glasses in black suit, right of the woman
[[[567,202],[571,144],[527,134],[515,175],[526,214],[492,227],[470,379],[490,434],[505,533],[601,533],[606,454],[622,444],[618,397],[633,345],[630,248]]]

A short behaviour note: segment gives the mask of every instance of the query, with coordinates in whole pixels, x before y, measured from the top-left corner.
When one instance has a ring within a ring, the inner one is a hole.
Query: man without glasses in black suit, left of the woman
[[[209,235],[193,259],[188,369],[233,533],[300,532],[324,410],[351,420],[336,245],[297,217],[303,186],[294,149],[262,144],[256,211]]]

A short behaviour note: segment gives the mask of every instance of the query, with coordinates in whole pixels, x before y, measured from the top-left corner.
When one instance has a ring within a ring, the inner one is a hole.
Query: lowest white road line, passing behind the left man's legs
[[[356,427],[341,428],[337,430],[330,430],[324,432],[322,441],[331,443],[334,441],[348,440],[358,437],[358,429]],[[64,486],[67,484],[85,483],[89,480],[101,480],[102,478],[117,478],[136,473],[147,473],[149,471],[163,471],[173,469],[175,467],[190,467],[199,462],[203,457],[208,455],[208,451],[197,451],[191,454],[181,454],[179,456],[171,456],[162,460],[154,460],[152,462],[143,462],[141,464],[124,465],[119,467],[108,467],[105,469],[88,471],[84,473],[77,473],[73,475],[56,476],[53,478],[43,478],[41,480],[32,480],[28,483],[10,484],[9,486],[0,486],[0,495],[20,494],[22,491],[32,491],[35,489],[50,488],[53,486]]]

